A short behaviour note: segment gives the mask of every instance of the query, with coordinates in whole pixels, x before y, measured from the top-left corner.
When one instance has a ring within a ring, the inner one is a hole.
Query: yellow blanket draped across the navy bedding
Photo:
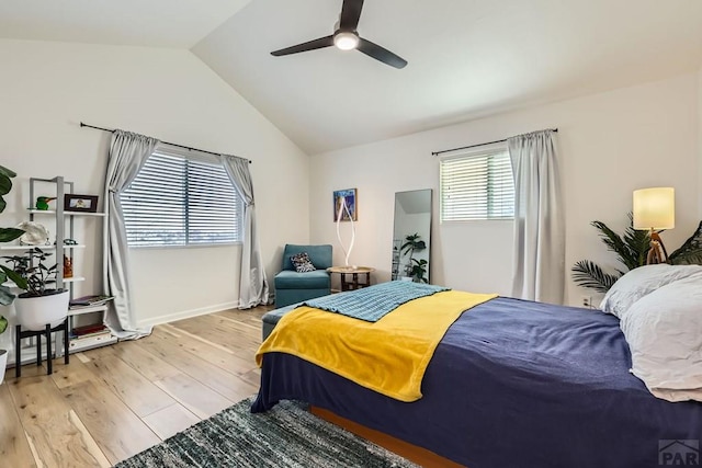
[[[410,300],[376,322],[298,307],[283,316],[263,353],[298,356],[400,401],[421,398],[421,379],[437,345],[471,307],[497,297],[446,290]]]

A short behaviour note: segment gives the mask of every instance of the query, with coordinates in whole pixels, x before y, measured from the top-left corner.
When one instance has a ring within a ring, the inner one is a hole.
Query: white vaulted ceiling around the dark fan
[[[0,37],[191,49],[308,153],[699,70],[699,0],[365,0],[361,36],[395,69],[333,47],[342,0],[3,0]]]

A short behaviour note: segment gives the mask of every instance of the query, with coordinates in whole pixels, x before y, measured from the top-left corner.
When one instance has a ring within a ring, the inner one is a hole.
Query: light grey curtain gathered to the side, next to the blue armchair
[[[220,155],[222,165],[227,171],[244,198],[244,246],[241,249],[241,274],[239,279],[239,309],[268,304],[268,281],[256,226],[253,181],[249,160],[236,156]]]

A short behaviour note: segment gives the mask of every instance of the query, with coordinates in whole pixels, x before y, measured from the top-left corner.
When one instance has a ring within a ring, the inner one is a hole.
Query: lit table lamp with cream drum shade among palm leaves
[[[676,227],[676,192],[672,187],[634,191],[634,229],[650,229],[650,249],[646,264],[666,263],[668,252],[657,230]]]

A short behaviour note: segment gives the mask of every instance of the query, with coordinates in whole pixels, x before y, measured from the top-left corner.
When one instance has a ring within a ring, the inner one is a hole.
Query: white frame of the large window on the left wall
[[[241,191],[234,184],[234,182],[229,179],[229,175],[226,173],[226,169],[224,168],[224,164],[222,163],[222,161],[214,155],[207,155],[197,150],[184,150],[184,149],[180,149],[178,147],[174,146],[170,146],[167,144],[161,144],[159,146],[156,147],[156,149],[154,150],[154,152],[151,155],[149,155],[149,158],[151,157],[167,157],[167,158],[179,158],[185,161],[185,167],[183,170],[183,174],[185,178],[189,176],[189,164],[190,163],[199,163],[199,164],[211,164],[214,167],[218,167],[222,168],[222,171],[224,172],[226,180],[229,182],[229,184],[231,185],[231,190],[234,193],[234,196],[236,197],[235,202],[236,202],[236,207],[235,209],[235,214],[236,214],[236,228],[235,228],[235,232],[236,232],[236,240],[229,240],[229,241],[224,241],[224,242],[191,242],[190,241],[190,230],[191,230],[191,218],[190,218],[190,213],[192,210],[192,206],[190,204],[190,198],[191,198],[191,194],[189,192],[185,193],[181,193],[182,195],[182,199],[184,203],[184,207],[183,207],[183,216],[184,216],[184,226],[183,226],[183,231],[182,235],[184,237],[184,243],[151,243],[151,244],[132,244],[128,241],[128,222],[126,221],[126,209],[124,207],[124,202],[123,202],[123,196],[127,196],[128,194],[128,189],[126,189],[125,191],[123,191],[122,193],[120,193],[120,202],[122,205],[122,209],[123,209],[123,215],[125,217],[125,230],[127,232],[127,247],[129,249],[200,249],[200,248],[216,248],[216,247],[231,247],[231,246],[240,246],[244,242],[244,210],[245,210],[245,203],[244,203],[244,197],[241,196]],[[148,159],[147,159],[148,161]],[[146,162],[145,162],[146,164]],[[139,171],[140,172],[140,171]],[[137,174],[138,178],[138,174]],[[135,181],[137,180],[137,178],[135,178]],[[132,182],[134,183],[134,181]],[[185,191],[188,185],[192,183],[192,181],[190,179],[183,181],[183,186],[182,190]],[[155,220],[156,221],[156,220]]]

